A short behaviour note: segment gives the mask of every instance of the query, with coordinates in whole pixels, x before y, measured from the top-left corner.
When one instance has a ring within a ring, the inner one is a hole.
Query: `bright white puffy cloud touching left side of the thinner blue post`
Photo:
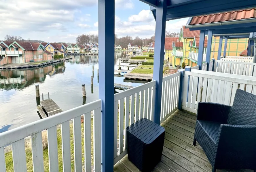
[[[143,9],[139,14],[137,15],[131,15],[128,18],[128,21],[130,22],[150,22],[154,20],[154,17],[150,10]]]

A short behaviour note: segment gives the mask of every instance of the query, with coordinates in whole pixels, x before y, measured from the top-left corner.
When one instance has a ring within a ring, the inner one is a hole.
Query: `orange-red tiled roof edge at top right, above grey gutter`
[[[196,16],[196,17],[193,17],[189,25],[216,23],[220,21],[241,20],[241,19],[249,19],[249,18],[255,18],[255,17],[256,17],[255,8],[242,9],[238,11],[229,11],[225,13]]]

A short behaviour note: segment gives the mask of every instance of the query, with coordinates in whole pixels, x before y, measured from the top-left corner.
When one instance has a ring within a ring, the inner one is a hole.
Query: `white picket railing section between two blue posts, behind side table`
[[[115,94],[114,164],[127,154],[126,128],[141,118],[153,120],[155,96],[156,81]]]

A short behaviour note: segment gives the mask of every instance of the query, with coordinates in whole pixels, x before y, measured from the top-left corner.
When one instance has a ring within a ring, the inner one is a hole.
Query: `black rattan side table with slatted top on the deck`
[[[142,172],[152,171],[160,162],[165,130],[142,118],[126,128],[128,159]]]

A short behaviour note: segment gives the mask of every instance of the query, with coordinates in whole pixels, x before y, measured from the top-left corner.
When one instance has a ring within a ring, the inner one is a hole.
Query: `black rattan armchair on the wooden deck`
[[[213,170],[252,169],[256,172],[256,95],[238,89],[233,107],[198,103],[196,141]]]

